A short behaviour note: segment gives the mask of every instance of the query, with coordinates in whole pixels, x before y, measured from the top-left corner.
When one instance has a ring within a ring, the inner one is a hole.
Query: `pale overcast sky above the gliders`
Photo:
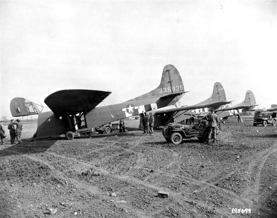
[[[251,90],[258,108],[276,99],[276,1],[1,1],[1,114],[23,97],[63,89],[113,92],[121,103],[181,74],[181,105]],[[102,106],[102,105],[101,105]],[[47,111],[49,109],[44,109]]]

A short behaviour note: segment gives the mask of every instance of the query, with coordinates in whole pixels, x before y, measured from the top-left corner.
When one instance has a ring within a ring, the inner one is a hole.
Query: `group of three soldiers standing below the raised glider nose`
[[[16,128],[14,128],[14,125],[16,125]],[[18,144],[21,144],[22,126],[23,124],[19,119],[16,119],[16,122],[14,122],[14,119],[11,120],[10,124],[8,125],[8,130],[10,130],[11,144],[14,144],[15,139],[18,141]],[[6,137],[3,120],[1,120],[0,124],[0,137],[1,145],[3,145]]]

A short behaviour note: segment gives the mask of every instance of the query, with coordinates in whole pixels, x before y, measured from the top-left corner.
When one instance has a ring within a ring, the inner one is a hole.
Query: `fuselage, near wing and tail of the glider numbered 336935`
[[[51,111],[39,113],[36,138],[65,134],[66,139],[73,139],[74,133],[87,134],[106,123],[174,104],[184,93],[182,78],[173,65],[164,67],[157,88],[116,105],[96,107],[111,92],[60,90],[45,98],[44,103]]]

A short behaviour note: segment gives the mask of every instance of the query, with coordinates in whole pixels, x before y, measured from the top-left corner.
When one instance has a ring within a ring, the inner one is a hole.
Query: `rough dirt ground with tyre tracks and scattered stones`
[[[23,123],[22,144],[1,145],[0,217],[277,217],[276,126],[242,118],[210,145],[167,143],[138,120],[128,133],[30,142],[36,123]]]

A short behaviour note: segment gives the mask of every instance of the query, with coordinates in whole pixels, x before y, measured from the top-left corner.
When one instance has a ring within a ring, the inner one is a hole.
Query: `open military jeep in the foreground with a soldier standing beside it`
[[[221,124],[221,123],[220,123]],[[219,133],[218,126],[216,127],[216,134]],[[169,143],[180,144],[182,139],[190,139],[197,137],[202,142],[213,141],[214,137],[208,139],[209,128],[208,121],[201,120],[199,124],[183,125],[179,123],[171,123],[162,129],[162,135]]]

